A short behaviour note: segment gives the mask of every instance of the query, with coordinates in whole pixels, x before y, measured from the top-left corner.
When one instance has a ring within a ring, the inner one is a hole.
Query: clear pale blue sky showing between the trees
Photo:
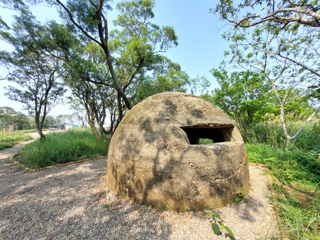
[[[117,12],[115,10],[117,1],[111,5],[114,10],[108,14],[109,27],[110,20],[115,19]],[[223,52],[228,51],[229,43],[222,39],[223,31],[230,27],[223,26],[216,15],[209,13],[209,9],[214,8],[215,1],[169,1],[156,0],[156,7],[153,9],[155,18],[152,20],[157,25],[169,25],[175,29],[178,36],[179,45],[176,48],[169,49],[166,55],[173,62],[178,62],[181,69],[186,71],[191,78],[197,75],[206,76],[211,82],[211,89],[217,87],[216,81],[209,70],[213,67],[219,67],[219,63],[224,59]],[[33,6],[31,10],[37,19],[46,22],[47,20],[58,20],[56,10],[51,7]],[[10,22],[11,15],[14,12],[0,8],[0,15],[3,20]],[[110,27],[111,28],[111,27]],[[0,49],[10,51],[10,47],[4,42],[0,42]],[[22,104],[8,100],[3,94],[6,92],[3,87],[8,85],[7,81],[0,82],[1,106],[10,106],[16,111],[21,111]],[[22,111],[26,113],[25,111]],[[70,114],[68,106],[55,107],[50,115]]]

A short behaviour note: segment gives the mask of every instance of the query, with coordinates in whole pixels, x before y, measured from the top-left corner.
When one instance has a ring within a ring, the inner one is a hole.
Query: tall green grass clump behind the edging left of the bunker
[[[25,145],[13,158],[35,169],[108,154],[110,139],[98,140],[89,131],[50,132],[46,141],[39,139]]]

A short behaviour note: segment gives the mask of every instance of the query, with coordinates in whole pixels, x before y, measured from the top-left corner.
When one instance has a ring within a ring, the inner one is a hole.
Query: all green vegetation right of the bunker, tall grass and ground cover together
[[[292,122],[289,129],[299,123]],[[308,124],[290,150],[278,124],[257,125],[246,143],[249,162],[266,164],[274,177],[270,188],[276,210],[292,240],[319,239],[320,236],[320,125]]]

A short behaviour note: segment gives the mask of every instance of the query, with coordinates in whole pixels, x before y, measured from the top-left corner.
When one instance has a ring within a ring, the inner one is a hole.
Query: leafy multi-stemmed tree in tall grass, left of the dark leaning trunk
[[[104,55],[99,46],[93,42],[87,45],[78,44],[68,51],[63,70],[64,83],[84,107],[88,124],[97,138],[105,133],[103,125],[107,110],[114,106],[116,94],[112,87],[112,78],[105,65]],[[100,84],[97,82],[102,82]],[[122,105],[121,105],[122,108]],[[111,118],[113,111],[109,111]],[[114,119],[111,119],[111,125]],[[98,130],[95,125],[97,124]],[[112,131],[112,127],[110,130]]]

